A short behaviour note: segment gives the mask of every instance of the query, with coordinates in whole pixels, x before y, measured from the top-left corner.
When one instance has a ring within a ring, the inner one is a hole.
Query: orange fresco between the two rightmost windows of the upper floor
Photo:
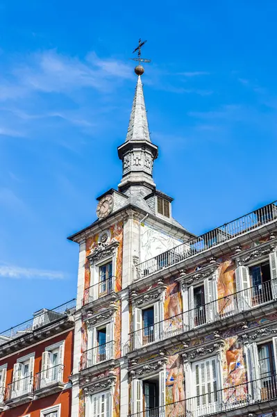
[[[224,316],[235,309],[235,298],[232,294],[235,288],[235,263],[228,259],[220,265],[219,278],[217,281],[219,315]]]

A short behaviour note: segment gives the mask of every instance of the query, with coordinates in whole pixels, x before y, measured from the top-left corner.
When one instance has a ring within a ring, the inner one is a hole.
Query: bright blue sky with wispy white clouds
[[[277,198],[276,1],[0,1],[0,329],[76,295],[138,38],[155,180],[201,234]]]

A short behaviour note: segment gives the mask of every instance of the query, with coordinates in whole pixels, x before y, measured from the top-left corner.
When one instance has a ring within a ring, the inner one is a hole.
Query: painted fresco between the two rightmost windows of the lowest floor
[[[246,366],[244,363],[243,345],[237,336],[225,339],[222,358],[224,396],[228,402],[245,400],[247,395]],[[234,386],[236,386],[234,388]],[[232,388],[231,388],[232,387]]]

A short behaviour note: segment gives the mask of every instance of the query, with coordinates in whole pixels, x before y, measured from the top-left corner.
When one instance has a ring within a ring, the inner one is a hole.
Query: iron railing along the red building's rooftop
[[[33,330],[49,325],[60,318],[70,316],[76,309],[76,299],[66,302],[55,309],[44,311],[44,313],[26,320],[25,322],[0,333],[0,345],[8,343],[20,336],[30,334]]]

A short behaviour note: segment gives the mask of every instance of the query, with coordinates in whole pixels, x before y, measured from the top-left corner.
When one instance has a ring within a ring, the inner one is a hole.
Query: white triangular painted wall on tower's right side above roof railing
[[[147,259],[151,259],[181,243],[182,240],[176,239],[166,234],[165,231],[145,223],[141,227],[141,261],[144,262]]]

